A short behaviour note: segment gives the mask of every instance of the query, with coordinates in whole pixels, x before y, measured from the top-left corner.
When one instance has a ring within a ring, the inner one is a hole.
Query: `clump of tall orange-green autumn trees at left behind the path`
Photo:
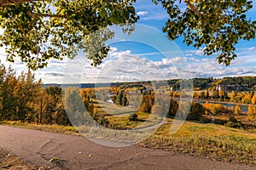
[[[0,121],[70,125],[61,98],[61,88],[42,88],[31,71],[16,76],[0,66]]]

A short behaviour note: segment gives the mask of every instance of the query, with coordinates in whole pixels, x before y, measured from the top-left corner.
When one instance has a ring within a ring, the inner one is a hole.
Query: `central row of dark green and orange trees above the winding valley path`
[[[113,99],[113,103],[118,104],[121,101],[120,99],[124,99],[125,96],[125,102],[128,100],[129,104],[131,103],[132,106],[137,108],[137,112],[154,113],[167,117],[187,117],[189,120],[200,121],[206,112],[203,105],[199,103],[191,103],[191,101],[183,102],[173,99],[173,96],[180,94],[170,95],[170,92],[167,91],[154,92],[153,90],[139,91],[139,94],[136,94],[136,91],[126,89],[126,91],[123,90],[119,93],[113,93],[111,99]],[[187,109],[189,109],[189,113]]]

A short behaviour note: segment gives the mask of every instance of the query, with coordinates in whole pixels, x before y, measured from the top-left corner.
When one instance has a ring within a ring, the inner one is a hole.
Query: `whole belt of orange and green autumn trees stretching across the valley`
[[[139,89],[139,90],[138,90]],[[202,92],[201,98],[210,96]],[[157,94],[157,95],[156,95]],[[129,89],[122,88],[65,88],[57,86],[43,88],[41,80],[36,80],[31,71],[16,75],[15,71],[0,65],[0,121],[20,121],[37,124],[82,125],[88,117],[85,111],[98,123],[112,127],[104,115],[100,115],[94,103],[97,99],[107,101],[111,99],[114,104],[121,106],[133,105],[137,112],[156,113],[159,115],[187,116],[190,120],[201,120],[201,116],[210,111],[218,114],[228,111],[221,106],[200,105],[175,100],[181,94],[174,90],[148,90],[133,84]],[[222,96],[218,91],[218,96]],[[235,93],[230,100],[239,100],[244,103],[255,104],[256,94]],[[191,107],[190,107],[191,105]],[[183,108],[190,108],[189,113]],[[231,111],[231,110],[229,110]],[[237,115],[241,108],[233,110]],[[251,120],[255,119],[255,107],[248,108]],[[71,123],[72,122],[72,123]]]

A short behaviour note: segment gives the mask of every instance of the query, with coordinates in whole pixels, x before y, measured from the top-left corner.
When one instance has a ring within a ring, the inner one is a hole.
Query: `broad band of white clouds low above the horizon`
[[[247,53],[250,51],[250,53]],[[1,49],[0,49],[1,52]],[[68,83],[80,82],[135,82],[152,81],[172,78],[190,77],[229,77],[229,76],[255,76],[256,65],[241,65],[244,62],[255,63],[253,56],[255,48],[242,50],[232,65],[225,67],[218,65],[212,58],[191,57],[201,54],[200,50],[190,51],[188,57],[176,56],[158,61],[147,59],[144,55],[132,54],[131,50],[118,51],[118,48],[110,48],[108,58],[103,59],[102,65],[93,67],[90,60],[80,54],[75,59],[51,59],[47,68],[36,71],[36,78],[42,78],[44,83]],[[148,54],[153,55],[154,54]],[[0,54],[1,58],[5,56]],[[6,63],[9,64],[9,63]],[[21,62],[13,64],[15,71],[26,71],[26,65]]]

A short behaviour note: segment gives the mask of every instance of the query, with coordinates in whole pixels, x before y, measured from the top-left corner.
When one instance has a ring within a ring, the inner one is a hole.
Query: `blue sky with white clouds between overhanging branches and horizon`
[[[239,42],[238,57],[226,67],[218,64],[215,55],[205,56],[202,48],[188,47],[182,38],[169,41],[161,31],[168,15],[160,5],[137,0],[135,8],[140,16],[135,33],[128,36],[119,27],[110,27],[115,37],[107,42],[111,49],[102,65],[90,66],[86,54],[80,52],[75,59],[51,59],[46,68],[34,71],[35,77],[44,83],[95,83],[256,76],[256,40]],[[255,12],[256,1],[253,1],[253,9],[248,13],[252,20],[256,20]],[[10,65],[5,62],[4,48],[0,48],[0,59],[4,65]],[[11,65],[17,74],[27,71],[19,60]]]

